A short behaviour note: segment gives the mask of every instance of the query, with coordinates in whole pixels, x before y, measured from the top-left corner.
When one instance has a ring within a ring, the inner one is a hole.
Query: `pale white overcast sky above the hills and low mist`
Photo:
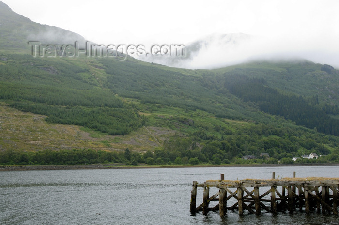
[[[339,67],[339,0],[2,1],[32,21],[98,44],[187,44],[241,32],[267,40],[263,52],[304,52],[301,57]]]

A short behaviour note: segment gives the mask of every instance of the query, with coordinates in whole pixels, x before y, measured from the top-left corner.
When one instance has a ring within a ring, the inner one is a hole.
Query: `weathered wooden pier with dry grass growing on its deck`
[[[197,191],[203,188],[202,203],[197,207]],[[216,189],[216,194],[210,195],[210,189]],[[277,214],[281,211],[293,213],[296,210],[333,213],[338,215],[339,178],[293,178],[275,179],[273,172],[269,180],[207,180],[199,184],[193,181],[191,191],[191,215],[202,211],[219,211],[224,217],[227,210],[238,210],[239,215],[248,213],[256,215],[262,211]],[[261,194],[262,191],[263,193]],[[287,193],[286,193],[287,192]],[[217,204],[212,205],[212,202]]]

